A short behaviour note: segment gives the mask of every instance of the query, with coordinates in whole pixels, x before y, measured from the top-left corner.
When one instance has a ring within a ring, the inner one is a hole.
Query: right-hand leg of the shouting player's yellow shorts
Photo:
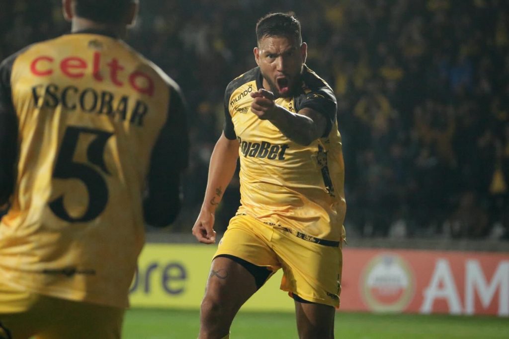
[[[315,243],[284,230],[274,235],[273,242],[284,271],[282,290],[310,302],[339,306],[343,264],[340,243]]]

